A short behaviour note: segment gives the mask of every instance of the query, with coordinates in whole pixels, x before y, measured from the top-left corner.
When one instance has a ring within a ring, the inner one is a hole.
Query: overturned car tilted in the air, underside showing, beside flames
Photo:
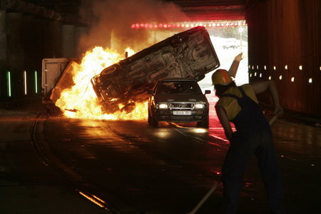
[[[193,78],[220,66],[208,31],[197,26],[143,49],[91,78],[106,113],[131,112],[148,100],[148,90],[164,78]]]

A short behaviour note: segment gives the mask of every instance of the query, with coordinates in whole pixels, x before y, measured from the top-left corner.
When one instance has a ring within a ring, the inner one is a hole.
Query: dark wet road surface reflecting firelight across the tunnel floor
[[[219,180],[229,146],[210,113],[208,129],[0,113],[1,213],[188,213]],[[280,119],[272,132],[288,213],[320,213],[320,127]],[[198,213],[221,213],[221,195],[220,184]],[[240,213],[269,213],[255,158]]]

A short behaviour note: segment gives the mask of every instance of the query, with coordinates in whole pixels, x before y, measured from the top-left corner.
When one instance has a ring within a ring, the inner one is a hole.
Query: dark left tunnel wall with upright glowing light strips
[[[42,59],[78,57],[76,45],[86,33],[84,26],[6,11],[0,11],[0,30],[0,101],[40,96]]]

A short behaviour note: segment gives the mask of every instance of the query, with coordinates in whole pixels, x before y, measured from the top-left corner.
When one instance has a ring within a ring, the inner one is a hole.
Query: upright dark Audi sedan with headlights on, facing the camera
[[[172,78],[158,81],[148,93],[148,123],[157,127],[159,121],[197,122],[208,128],[208,99],[198,83],[188,78]]]

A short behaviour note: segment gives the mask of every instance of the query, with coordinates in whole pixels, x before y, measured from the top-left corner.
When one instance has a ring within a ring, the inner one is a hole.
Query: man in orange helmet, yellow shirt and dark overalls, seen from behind
[[[282,183],[275,156],[270,124],[263,116],[255,94],[267,89],[275,104],[275,116],[283,110],[280,106],[274,81],[258,81],[235,86],[228,71],[219,69],[212,81],[219,100],[215,110],[222,124],[230,148],[222,169],[223,206],[225,213],[237,213],[240,189],[245,169],[255,154],[263,177],[271,213],[282,213]],[[233,133],[230,121],[236,131]]]

